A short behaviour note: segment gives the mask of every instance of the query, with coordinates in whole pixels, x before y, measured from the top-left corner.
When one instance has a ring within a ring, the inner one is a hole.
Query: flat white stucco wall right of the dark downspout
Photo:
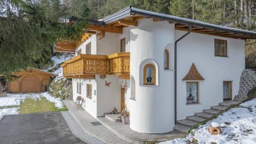
[[[186,31],[175,30],[175,40]],[[227,40],[227,58],[214,56],[214,38]],[[192,63],[204,77],[199,83],[199,104],[186,105],[186,81]],[[202,112],[223,101],[223,81],[232,81],[232,97],[239,90],[244,70],[244,40],[191,33],[177,45],[177,118]]]

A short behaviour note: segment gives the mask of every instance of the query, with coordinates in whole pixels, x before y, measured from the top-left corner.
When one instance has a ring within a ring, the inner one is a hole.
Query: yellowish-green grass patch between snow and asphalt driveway
[[[40,99],[25,99],[20,103],[19,114],[26,113],[46,113],[53,111],[67,111],[67,108],[56,108],[55,104],[49,102],[45,97]]]

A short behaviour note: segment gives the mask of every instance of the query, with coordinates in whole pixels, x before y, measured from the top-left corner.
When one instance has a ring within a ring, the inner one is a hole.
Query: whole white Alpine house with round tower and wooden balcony
[[[244,41],[256,33],[128,6],[91,20],[76,57],[62,65],[74,100],[104,116],[129,109],[130,128],[173,131],[177,120],[202,112],[239,90]]]

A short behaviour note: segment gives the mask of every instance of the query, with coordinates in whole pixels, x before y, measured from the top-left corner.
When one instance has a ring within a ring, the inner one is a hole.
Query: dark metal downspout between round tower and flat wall
[[[182,40],[184,37],[186,37],[187,35],[189,35],[189,33],[191,33],[192,31],[192,25],[189,25],[189,31],[181,36],[178,40],[175,41],[174,44],[174,113],[175,113],[175,124],[177,124],[177,43]]]

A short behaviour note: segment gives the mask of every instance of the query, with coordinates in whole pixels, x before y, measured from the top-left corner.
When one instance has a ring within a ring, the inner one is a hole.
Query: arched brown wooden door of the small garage
[[[21,81],[21,92],[41,92],[40,80],[34,75],[28,75]]]

